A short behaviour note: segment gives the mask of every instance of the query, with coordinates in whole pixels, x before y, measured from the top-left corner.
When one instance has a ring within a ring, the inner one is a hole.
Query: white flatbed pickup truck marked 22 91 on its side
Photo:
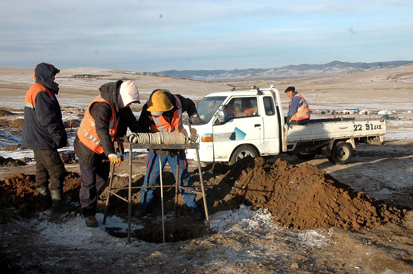
[[[200,161],[206,162],[233,164],[248,155],[288,153],[302,159],[324,155],[346,164],[356,144],[382,145],[386,134],[385,119],[310,119],[305,125],[287,125],[273,85],[212,93],[199,101],[197,110],[203,122],[192,127],[199,136]],[[197,160],[195,150],[187,150],[187,157]]]

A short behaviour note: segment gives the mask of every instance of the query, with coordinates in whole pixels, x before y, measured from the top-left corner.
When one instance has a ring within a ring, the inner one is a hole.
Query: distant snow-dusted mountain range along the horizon
[[[235,70],[166,70],[154,72],[156,75],[168,75],[173,78],[188,78],[205,81],[245,81],[272,80],[298,77],[319,77],[339,73],[356,73],[366,70],[395,67],[411,64],[413,61],[390,61],[375,63],[348,63],[333,61],[327,64],[286,65],[279,68],[248,68]]]

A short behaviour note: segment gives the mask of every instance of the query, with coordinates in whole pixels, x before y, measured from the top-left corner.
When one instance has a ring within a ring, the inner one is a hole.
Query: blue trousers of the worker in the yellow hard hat
[[[160,170],[159,170],[159,157],[161,158],[162,170],[168,161],[169,166],[172,169],[172,173],[176,178],[176,161],[178,161],[178,155],[167,156],[157,155],[152,152],[148,152],[146,159],[146,174],[142,186],[158,186],[160,185]],[[179,177],[178,182],[180,186],[183,186],[189,190],[195,191],[188,173],[188,161],[185,152],[181,151],[179,159]],[[142,188],[140,193],[140,204],[142,206],[151,206],[152,199],[154,198],[155,188]],[[189,210],[197,208],[196,193],[185,191],[179,188],[179,192],[184,195],[185,204]]]

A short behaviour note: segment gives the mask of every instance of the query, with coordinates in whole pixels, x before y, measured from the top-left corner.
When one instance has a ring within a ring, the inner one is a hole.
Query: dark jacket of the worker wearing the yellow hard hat
[[[152,94],[149,97],[149,100],[151,99],[152,95],[158,90],[154,90]],[[170,111],[164,112],[162,116],[167,120],[167,121],[172,121],[173,113],[179,108],[179,103],[176,101],[175,97],[169,90],[162,90],[165,95],[168,97],[168,99],[171,101],[173,108]],[[198,114],[196,111],[196,106],[195,103],[189,99],[182,97],[179,94],[175,94],[179,100],[181,101],[182,105],[182,113],[187,112],[189,117],[191,117],[193,114]],[[148,100],[148,102],[149,102]],[[142,107],[142,112],[140,113],[138,123],[142,127],[143,132],[151,133],[151,124],[152,120],[149,118],[151,116],[151,112],[148,112],[148,104],[144,104]],[[178,152],[177,149],[168,149],[168,150],[154,150],[154,149],[148,149],[148,151],[155,153],[155,154],[162,154],[162,155],[168,155],[168,156],[174,156]]]

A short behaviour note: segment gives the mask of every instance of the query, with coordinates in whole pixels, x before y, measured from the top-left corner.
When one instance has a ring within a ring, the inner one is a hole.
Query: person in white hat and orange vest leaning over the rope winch
[[[102,85],[100,95],[89,105],[74,141],[81,171],[80,205],[86,226],[97,227],[96,201],[109,177],[109,159],[120,164],[113,142],[123,137],[127,128],[140,132],[130,104],[140,103],[138,88],[132,81],[116,81]]]

